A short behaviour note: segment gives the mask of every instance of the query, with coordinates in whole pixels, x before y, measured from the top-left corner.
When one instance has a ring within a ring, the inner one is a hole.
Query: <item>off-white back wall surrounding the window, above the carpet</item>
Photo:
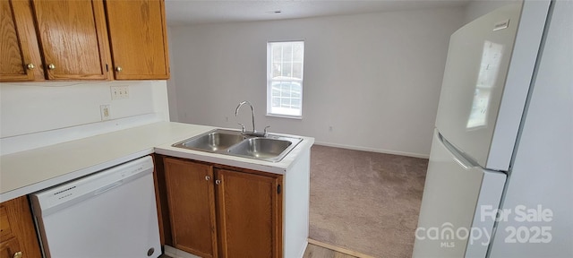
[[[259,130],[428,157],[449,36],[463,18],[445,8],[172,27],[172,119],[239,128],[235,107],[250,100]],[[292,39],[305,41],[304,118],[264,116],[266,43]]]

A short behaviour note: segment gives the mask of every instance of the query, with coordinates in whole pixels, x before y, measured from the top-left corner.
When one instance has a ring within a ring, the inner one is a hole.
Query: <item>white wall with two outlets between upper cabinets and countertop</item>
[[[129,86],[129,99],[112,100],[112,85]],[[169,121],[166,85],[166,81],[0,83],[0,152]],[[110,120],[101,121],[100,105],[110,105]]]

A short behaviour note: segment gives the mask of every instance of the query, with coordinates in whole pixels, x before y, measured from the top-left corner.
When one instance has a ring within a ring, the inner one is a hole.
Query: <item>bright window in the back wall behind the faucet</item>
[[[267,115],[303,116],[304,41],[267,46]]]

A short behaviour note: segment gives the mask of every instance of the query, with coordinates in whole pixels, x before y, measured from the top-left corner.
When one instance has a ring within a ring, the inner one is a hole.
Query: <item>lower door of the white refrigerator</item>
[[[485,257],[505,180],[464,159],[436,130],[413,257]]]

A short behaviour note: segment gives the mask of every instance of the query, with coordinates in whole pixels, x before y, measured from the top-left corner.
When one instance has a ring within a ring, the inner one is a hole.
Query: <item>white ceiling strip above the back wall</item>
[[[166,0],[168,26],[254,22],[449,6],[470,0]],[[279,12],[279,13],[277,13]]]

